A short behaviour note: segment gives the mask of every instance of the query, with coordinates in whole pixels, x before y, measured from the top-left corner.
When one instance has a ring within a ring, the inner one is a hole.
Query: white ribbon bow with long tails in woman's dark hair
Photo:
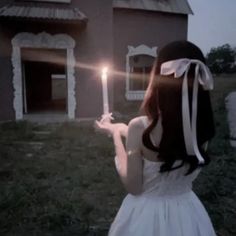
[[[190,121],[187,77],[191,65],[196,65],[196,67],[193,81],[192,119]],[[196,155],[199,163],[204,163],[204,159],[197,145],[197,96],[198,83],[203,86],[204,90],[213,89],[213,78],[211,72],[203,62],[196,59],[183,58],[162,63],[160,74],[174,74],[175,78],[180,78],[184,75],[182,84],[182,117],[185,147],[188,155]]]

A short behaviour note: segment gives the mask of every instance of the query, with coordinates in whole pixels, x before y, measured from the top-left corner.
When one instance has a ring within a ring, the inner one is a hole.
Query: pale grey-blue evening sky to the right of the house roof
[[[188,40],[206,54],[212,47],[236,47],[236,0],[188,0]]]

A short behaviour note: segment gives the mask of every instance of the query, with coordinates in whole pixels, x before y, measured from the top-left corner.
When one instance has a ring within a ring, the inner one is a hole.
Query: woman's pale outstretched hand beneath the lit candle
[[[111,123],[109,121],[101,122],[95,121],[95,129],[107,134],[108,136],[113,136],[115,133],[126,137],[128,132],[128,126],[124,123]]]

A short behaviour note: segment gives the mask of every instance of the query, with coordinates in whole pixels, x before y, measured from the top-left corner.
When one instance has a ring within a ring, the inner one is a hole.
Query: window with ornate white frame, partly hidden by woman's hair
[[[129,46],[126,55],[126,98],[142,100],[147,89],[150,73],[156,58],[157,47]]]

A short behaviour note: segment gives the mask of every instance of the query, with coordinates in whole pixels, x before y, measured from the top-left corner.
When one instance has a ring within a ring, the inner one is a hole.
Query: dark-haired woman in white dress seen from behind
[[[210,71],[200,49],[187,41],[162,48],[154,68],[143,102],[146,116],[128,126],[96,122],[113,136],[116,168],[129,193],[109,235],[214,236],[209,216],[191,189],[210,161]]]

